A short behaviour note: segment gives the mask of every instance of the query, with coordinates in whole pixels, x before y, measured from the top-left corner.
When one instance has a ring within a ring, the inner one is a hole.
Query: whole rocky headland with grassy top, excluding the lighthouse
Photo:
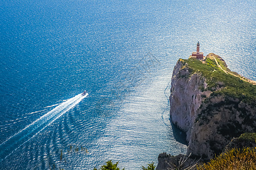
[[[210,57],[205,63],[179,59],[170,96],[171,120],[187,133],[187,154],[206,160],[233,137],[256,131],[255,85],[234,76],[219,56]]]

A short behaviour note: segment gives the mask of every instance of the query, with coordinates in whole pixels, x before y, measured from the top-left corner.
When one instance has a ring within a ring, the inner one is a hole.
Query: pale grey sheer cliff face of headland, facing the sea
[[[171,119],[181,130],[187,132],[187,141],[191,136],[191,128],[205,97],[209,97],[211,91],[201,91],[207,88],[204,76],[193,73],[187,63],[181,59],[177,62],[172,74],[171,83]]]

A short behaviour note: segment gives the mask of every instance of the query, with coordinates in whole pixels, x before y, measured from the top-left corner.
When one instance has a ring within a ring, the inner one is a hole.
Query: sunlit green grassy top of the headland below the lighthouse
[[[230,71],[225,61],[217,55],[215,58],[218,63],[210,57],[207,57],[205,62],[194,58],[180,59],[180,61],[189,68],[191,75],[199,73],[206,78],[208,89],[205,90],[213,91],[212,95],[224,94],[246,103],[256,103],[256,85],[242,80],[241,76]]]

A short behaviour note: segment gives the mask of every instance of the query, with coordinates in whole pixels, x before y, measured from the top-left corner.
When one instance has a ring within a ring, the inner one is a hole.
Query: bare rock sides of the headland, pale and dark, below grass
[[[256,131],[255,101],[245,103],[242,98],[216,93],[227,88],[225,83],[214,82],[216,86],[209,88],[207,82],[209,77],[179,59],[170,96],[171,121],[187,134],[187,155],[205,160],[220,154],[232,138]]]

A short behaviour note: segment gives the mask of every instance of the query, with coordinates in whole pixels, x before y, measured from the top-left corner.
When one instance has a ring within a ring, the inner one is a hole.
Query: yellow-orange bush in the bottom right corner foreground
[[[197,169],[256,169],[256,148],[233,148]]]

